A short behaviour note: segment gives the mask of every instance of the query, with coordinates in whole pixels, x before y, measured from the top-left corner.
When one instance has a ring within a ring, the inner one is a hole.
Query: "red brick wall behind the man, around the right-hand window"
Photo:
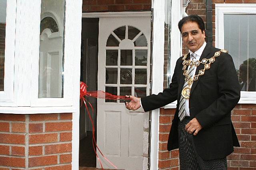
[[[215,3],[256,3],[256,0],[212,0],[213,45],[215,45]],[[206,1],[191,0],[188,15],[198,14],[206,22]],[[183,45],[182,53],[188,53]],[[159,165],[160,170],[178,170],[178,150],[167,151],[167,141],[175,109],[160,109]],[[231,112],[231,119],[241,147],[227,157],[228,170],[256,169],[256,104],[238,104]]]

